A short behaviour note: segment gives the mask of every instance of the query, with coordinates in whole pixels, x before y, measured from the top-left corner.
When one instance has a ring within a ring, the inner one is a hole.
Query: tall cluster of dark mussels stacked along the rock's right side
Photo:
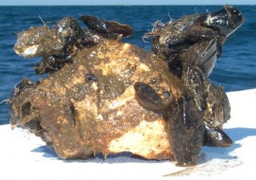
[[[144,36],[152,38],[152,53],[168,61],[169,71],[185,88],[178,105],[182,115],[169,118],[168,123],[170,146],[175,147],[172,152],[178,164],[193,164],[202,146],[232,144],[221,130],[230,119],[227,95],[208,77],[221,56],[224,41],[243,22],[241,12],[226,5],[220,11],[183,16],[166,24],[157,21],[152,32]]]

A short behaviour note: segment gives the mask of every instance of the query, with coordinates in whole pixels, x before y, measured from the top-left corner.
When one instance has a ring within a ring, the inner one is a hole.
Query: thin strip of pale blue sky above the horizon
[[[0,5],[255,5],[255,0],[1,0]]]

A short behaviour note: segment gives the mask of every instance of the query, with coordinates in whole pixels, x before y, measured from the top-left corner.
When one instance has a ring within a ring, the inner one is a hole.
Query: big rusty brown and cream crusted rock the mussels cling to
[[[87,79],[88,74],[97,81]],[[36,88],[21,92],[11,102],[12,109],[20,115],[19,124],[39,123],[36,135],[63,158],[130,151],[149,159],[170,159],[166,123],[161,114],[138,104],[136,81],[151,85],[159,95],[171,92],[173,99],[182,94],[178,79],[161,58],[104,39],[78,51],[73,64],[42,79]]]

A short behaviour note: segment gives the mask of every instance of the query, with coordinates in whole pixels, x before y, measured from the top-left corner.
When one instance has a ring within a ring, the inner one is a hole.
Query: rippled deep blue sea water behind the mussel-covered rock
[[[210,79],[225,91],[256,88],[256,6],[236,6],[245,23],[223,46]],[[94,15],[131,25],[135,33],[123,41],[150,51],[151,44],[141,37],[152,29],[152,23],[168,22],[170,17],[216,11],[222,6],[0,6],[0,102],[8,99],[13,87],[23,77],[40,79],[34,67],[40,58],[19,57],[13,51],[16,33],[30,26],[42,26],[42,20],[54,23],[64,16],[80,19],[80,15]],[[169,13],[169,16],[168,16]],[[80,26],[85,27],[81,22]],[[0,104],[0,124],[9,123],[8,104]]]

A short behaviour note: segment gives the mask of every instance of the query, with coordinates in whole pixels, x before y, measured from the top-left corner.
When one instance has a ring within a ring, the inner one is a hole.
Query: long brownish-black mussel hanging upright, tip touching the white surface
[[[169,110],[166,129],[177,165],[194,165],[203,146],[203,115],[186,94],[178,99],[178,104],[173,103]]]

